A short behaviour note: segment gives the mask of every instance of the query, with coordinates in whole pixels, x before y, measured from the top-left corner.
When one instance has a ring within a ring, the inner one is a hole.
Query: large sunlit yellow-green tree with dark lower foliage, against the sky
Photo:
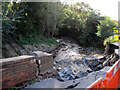
[[[96,26],[100,19],[97,11],[84,2],[65,5],[63,11],[65,16],[62,29],[72,31],[70,33],[72,38],[74,37],[81,45],[92,45],[92,42],[96,42]],[[76,32],[75,35],[73,32]]]

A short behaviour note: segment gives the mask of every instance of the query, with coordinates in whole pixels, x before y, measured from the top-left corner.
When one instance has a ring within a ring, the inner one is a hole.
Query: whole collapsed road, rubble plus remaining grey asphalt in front
[[[83,48],[64,41],[60,43],[61,48],[54,58],[55,73],[40,75],[42,80],[27,88],[86,88],[100,77],[104,79],[106,72],[119,59],[119,55],[114,52],[119,47],[115,45],[107,44],[105,53],[100,54],[94,47]]]

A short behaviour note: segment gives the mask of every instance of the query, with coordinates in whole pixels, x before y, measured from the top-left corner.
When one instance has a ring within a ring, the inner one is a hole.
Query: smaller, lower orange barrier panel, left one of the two
[[[93,90],[93,89],[97,89],[97,88],[104,88],[102,77],[99,78],[94,83],[92,83],[89,87],[87,87],[87,90]]]

